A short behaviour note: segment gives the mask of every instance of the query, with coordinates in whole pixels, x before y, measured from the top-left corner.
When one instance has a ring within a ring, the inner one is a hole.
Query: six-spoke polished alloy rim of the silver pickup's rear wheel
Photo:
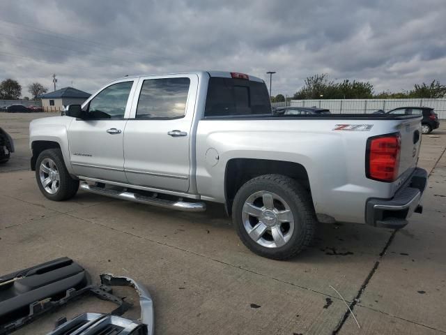
[[[291,208],[272,192],[259,191],[250,195],[243,205],[242,220],[249,237],[266,248],[284,246],[293,235]]]

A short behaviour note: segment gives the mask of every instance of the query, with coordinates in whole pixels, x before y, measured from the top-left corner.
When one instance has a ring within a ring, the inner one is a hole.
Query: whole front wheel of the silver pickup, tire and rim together
[[[79,188],[79,180],[70,177],[60,149],[40,153],[36,161],[36,179],[40,192],[49,200],[68,200]]]

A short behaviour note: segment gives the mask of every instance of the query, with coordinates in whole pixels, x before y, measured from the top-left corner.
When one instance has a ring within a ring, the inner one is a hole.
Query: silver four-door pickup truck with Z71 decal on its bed
[[[224,204],[254,253],[286,259],[318,221],[401,228],[426,186],[421,117],[278,115],[243,73],[124,77],[30,125],[31,169],[60,201],[79,188],[160,207]]]

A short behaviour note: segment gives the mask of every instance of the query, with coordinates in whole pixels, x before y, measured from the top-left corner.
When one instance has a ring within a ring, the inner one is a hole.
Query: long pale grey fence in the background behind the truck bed
[[[273,107],[282,107],[278,103]],[[319,107],[330,110],[334,114],[367,114],[377,110],[388,112],[397,107],[431,107],[438,114],[438,119],[446,119],[445,99],[321,99],[321,100],[291,100],[295,107]]]

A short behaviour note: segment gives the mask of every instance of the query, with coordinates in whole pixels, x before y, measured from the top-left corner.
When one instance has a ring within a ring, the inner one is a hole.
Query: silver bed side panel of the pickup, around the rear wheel
[[[372,126],[334,131],[337,124]],[[364,223],[367,199],[392,198],[397,187],[365,177],[367,138],[394,133],[400,125],[397,119],[204,119],[197,129],[197,188],[203,198],[224,202],[226,164],[233,158],[299,163],[307,170],[317,214]],[[209,149],[217,151],[214,166],[206,152],[215,151]]]

